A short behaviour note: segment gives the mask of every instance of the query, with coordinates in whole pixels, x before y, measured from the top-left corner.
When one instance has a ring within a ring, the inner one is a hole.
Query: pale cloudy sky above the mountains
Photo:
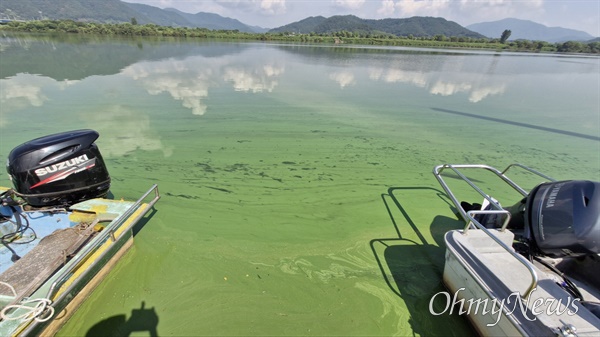
[[[208,12],[247,25],[276,28],[309,16],[364,19],[443,17],[462,26],[504,18],[600,36],[600,0],[125,0],[188,13]]]

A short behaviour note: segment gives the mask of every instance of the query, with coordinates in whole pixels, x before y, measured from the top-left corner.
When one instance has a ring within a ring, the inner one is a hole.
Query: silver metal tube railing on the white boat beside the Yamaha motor
[[[459,169],[483,169],[483,170],[490,171],[490,172],[494,173],[497,177],[502,179],[509,186],[511,186],[513,189],[515,189],[517,192],[519,192],[523,197],[526,197],[529,193],[506,176],[506,172],[508,172],[508,170],[510,170],[512,167],[519,167],[521,169],[524,169],[525,171],[528,171],[534,175],[540,176],[546,180],[556,181],[555,179],[550,178],[532,168],[529,168],[527,166],[524,166],[524,165],[518,164],[518,163],[509,165],[503,171],[499,171],[496,168],[488,166],[488,165],[444,164],[444,165],[436,166],[433,169],[433,175],[436,177],[436,179],[438,180],[438,182],[440,183],[440,185],[442,186],[442,188],[444,189],[444,191],[446,192],[446,194],[448,195],[448,197],[450,198],[452,203],[454,203],[454,206],[459,211],[461,217],[464,219],[465,228],[463,230],[463,235],[467,235],[470,228],[474,228],[474,229],[476,228],[476,229],[481,230],[482,232],[487,234],[492,240],[494,240],[500,247],[504,248],[504,250],[506,250],[510,255],[512,255],[517,261],[519,261],[522,265],[524,265],[525,268],[527,268],[527,270],[529,271],[529,274],[531,275],[531,283],[530,283],[529,287],[527,288],[527,290],[525,291],[525,293],[522,295],[523,298],[527,298],[531,294],[531,292],[537,287],[537,283],[538,283],[538,276],[537,276],[537,273],[535,272],[535,270],[533,269],[533,266],[523,256],[516,253],[512,249],[512,247],[509,247],[504,242],[502,242],[496,235],[494,235],[489,229],[487,229],[484,225],[482,225],[475,218],[476,215],[484,215],[484,214],[504,215],[505,219],[504,219],[504,222],[500,229],[500,231],[504,231],[504,230],[506,230],[506,227],[508,226],[508,223],[510,222],[510,212],[503,209],[502,206],[500,206],[500,204],[495,199],[493,199],[492,197],[487,195],[485,192],[483,192],[483,190],[481,188],[479,188],[475,183],[473,183],[473,181],[471,181],[471,179],[467,178],[462,172],[459,171]],[[460,177],[469,186],[471,186],[471,188],[473,188],[477,193],[479,193],[485,200],[487,200],[490,203],[492,209],[471,210],[468,212],[465,211],[464,208],[461,206],[460,201],[456,198],[456,196],[450,190],[450,187],[448,186],[448,184],[444,181],[444,178],[442,177],[442,172],[446,169],[452,170],[458,177]]]

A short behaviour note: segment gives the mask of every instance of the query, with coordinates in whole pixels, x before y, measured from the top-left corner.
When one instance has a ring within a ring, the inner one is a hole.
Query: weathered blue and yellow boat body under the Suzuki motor
[[[0,331],[55,332],[131,246],[133,226],[159,198],[154,185],[135,202],[0,206]]]

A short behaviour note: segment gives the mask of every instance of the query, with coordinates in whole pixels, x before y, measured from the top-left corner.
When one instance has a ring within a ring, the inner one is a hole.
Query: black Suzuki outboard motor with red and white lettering
[[[98,132],[76,130],[14,148],[7,171],[17,193],[32,206],[70,206],[104,197],[110,176],[94,143]]]

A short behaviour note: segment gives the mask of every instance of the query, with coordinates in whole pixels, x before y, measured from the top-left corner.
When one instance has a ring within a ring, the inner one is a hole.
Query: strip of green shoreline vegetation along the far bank
[[[132,19],[131,23],[94,23],[73,20],[12,21],[0,25],[0,31],[600,54],[600,42],[597,41],[550,43],[545,41],[516,40],[502,43],[500,38],[448,37],[444,35],[415,37],[412,35],[395,36],[385,33],[373,34],[348,31],[327,34],[295,34],[291,32],[246,33],[238,30],[210,30],[207,28],[170,27],[155,24],[138,25],[134,19]]]

